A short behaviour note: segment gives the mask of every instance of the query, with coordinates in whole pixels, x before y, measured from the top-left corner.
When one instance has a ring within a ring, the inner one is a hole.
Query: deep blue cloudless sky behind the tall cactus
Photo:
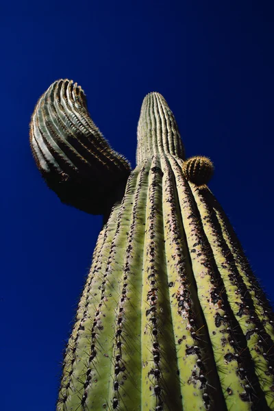
[[[19,7],[1,10],[0,25],[0,407],[51,411],[101,217],[62,205],[36,170],[28,125],[38,97],[55,79],[78,82],[92,119],[134,166],[142,99],[162,93],[187,155],[214,162],[210,188],[274,301],[274,6],[69,0]]]

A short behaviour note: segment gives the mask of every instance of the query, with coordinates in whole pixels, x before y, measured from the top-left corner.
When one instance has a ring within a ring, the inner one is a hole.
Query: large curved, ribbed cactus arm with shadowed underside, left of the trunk
[[[125,188],[129,162],[111,149],[90,119],[77,83],[61,79],[40,97],[30,144],[42,176],[64,203],[105,214]]]

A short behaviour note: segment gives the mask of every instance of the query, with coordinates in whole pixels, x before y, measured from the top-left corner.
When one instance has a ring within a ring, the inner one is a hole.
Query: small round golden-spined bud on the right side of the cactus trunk
[[[196,184],[197,186],[203,186],[210,181],[214,166],[209,158],[201,155],[195,155],[195,157],[188,158],[184,163],[184,175],[186,179]]]

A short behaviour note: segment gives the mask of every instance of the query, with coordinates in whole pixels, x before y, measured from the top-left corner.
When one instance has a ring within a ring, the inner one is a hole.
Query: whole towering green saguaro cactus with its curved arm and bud
[[[164,98],[142,103],[133,171],[68,80],[38,101],[30,141],[60,199],[105,216],[57,410],[274,410],[271,306]]]

